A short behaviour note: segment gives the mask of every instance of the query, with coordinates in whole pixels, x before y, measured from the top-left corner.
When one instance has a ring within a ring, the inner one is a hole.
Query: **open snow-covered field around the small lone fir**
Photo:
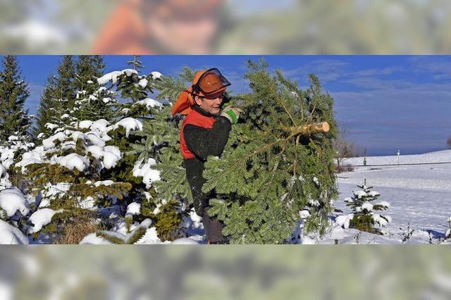
[[[362,165],[363,158],[349,158],[345,163]],[[392,223],[387,227],[387,237],[362,234],[365,242],[397,243],[403,232],[416,230],[409,242],[428,242],[429,237],[437,242],[448,228],[447,218],[451,215],[451,150],[436,151],[428,154],[400,156],[402,163],[442,163],[428,165],[390,165],[356,167],[353,172],[338,175],[340,196],[335,208],[349,213],[345,206],[345,197],[352,196],[357,185],[366,184],[380,192],[378,200],[391,204],[387,215]],[[367,165],[397,164],[397,156],[375,156],[366,158]],[[333,242],[336,238],[341,244],[350,242],[356,230],[333,230],[328,238],[321,242]],[[355,241],[354,241],[355,242]],[[362,242],[363,244],[364,242]]]

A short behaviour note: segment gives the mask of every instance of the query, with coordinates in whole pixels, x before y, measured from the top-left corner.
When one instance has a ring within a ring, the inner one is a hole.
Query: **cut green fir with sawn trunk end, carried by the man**
[[[223,220],[232,243],[283,243],[304,209],[307,232],[323,234],[337,196],[332,97],[316,75],[302,90],[267,69],[264,61],[249,61],[252,92],[232,99],[242,121],[233,125],[221,159],[205,163],[203,192],[216,194],[209,214]]]

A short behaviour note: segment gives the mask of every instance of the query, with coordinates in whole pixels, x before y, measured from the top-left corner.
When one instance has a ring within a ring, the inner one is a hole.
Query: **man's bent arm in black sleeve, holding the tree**
[[[199,158],[206,159],[208,156],[221,156],[231,127],[227,118],[218,117],[211,129],[192,124],[185,125],[183,135],[188,149]]]

